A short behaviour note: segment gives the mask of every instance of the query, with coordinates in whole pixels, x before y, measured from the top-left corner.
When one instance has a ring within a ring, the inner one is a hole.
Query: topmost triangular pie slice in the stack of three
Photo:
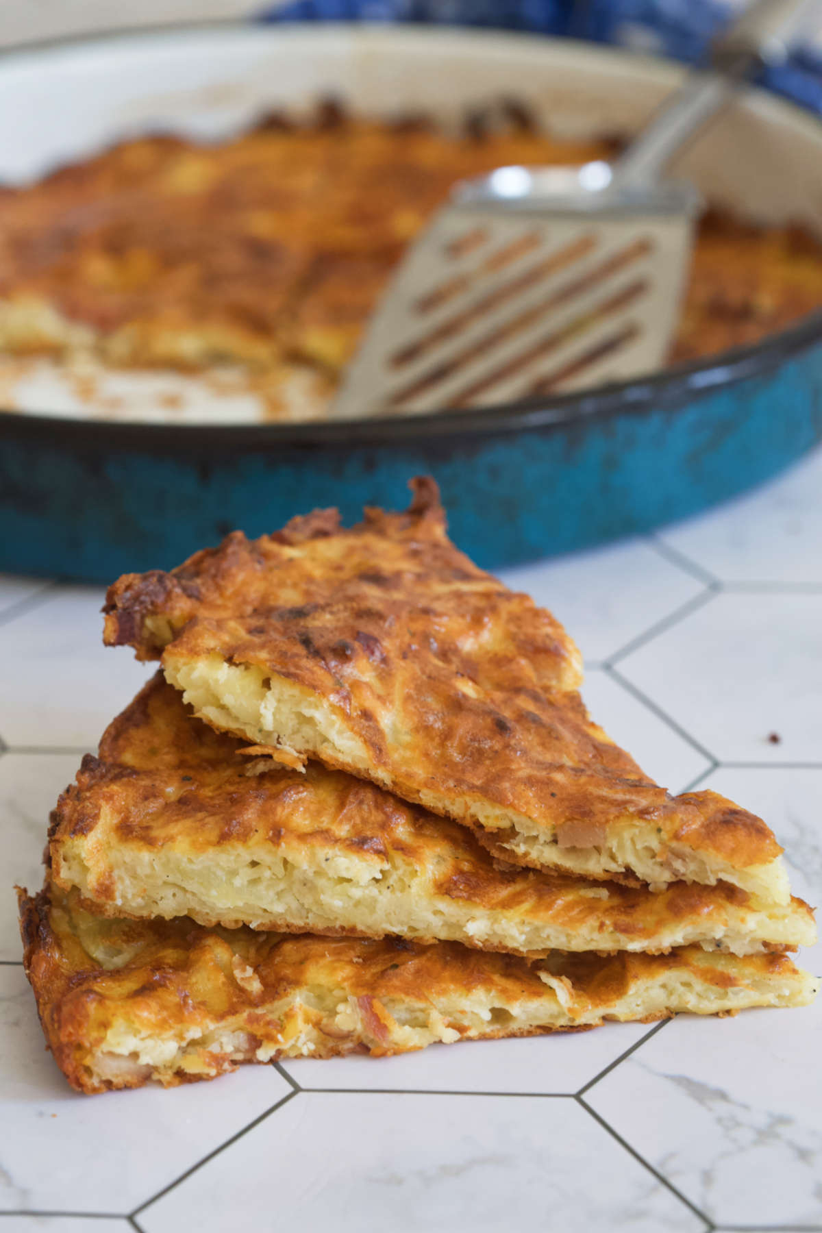
[[[768,826],[670,797],[593,724],[579,655],[450,543],[436,487],[403,514],[335,510],[110,588],[105,639],[159,658],[197,715],[280,761],[317,758],[472,827],[498,857],[587,878],[720,880],[786,904]]]

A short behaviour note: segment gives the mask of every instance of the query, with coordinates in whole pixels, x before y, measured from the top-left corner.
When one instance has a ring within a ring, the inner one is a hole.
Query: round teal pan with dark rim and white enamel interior
[[[0,58],[0,107],[15,116],[0,179],[25,182],[138,132],[224,137],[329,94],[444,123],[508,95],[560,134],[629,136],[680,72],[439,27],[222,25],[65,42]],[[678,170],[743,217],[820,229],[822,125],[784,100],[749,94]],[[59,370],[18,385],[0,412],[1,570],[108,581],[168,567],[230,529],[258,535],[317,506],[346,519],[403,506],[420,472],[486,566],[647,530],[763,482],[820,440],[822,313],[645,380],[408,419],[266,424],[207,382],[169,380],[185,385],[177,422],[159,411],[161,377],[118,374],[117,418],[74,404]],[[10,387],[1,360],[0,381]]]

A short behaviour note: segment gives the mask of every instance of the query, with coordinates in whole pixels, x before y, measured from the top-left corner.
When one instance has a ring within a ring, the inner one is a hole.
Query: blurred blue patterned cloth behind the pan
[[[413,21],[589,38],[698,63],[727,21],[720,0],[291,0],[264,21]],[[822,115],[822,52],[804,47],[763,84]]]

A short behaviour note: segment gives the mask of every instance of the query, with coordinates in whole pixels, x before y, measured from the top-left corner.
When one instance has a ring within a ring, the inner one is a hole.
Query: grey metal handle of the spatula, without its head
[[[822,21],[821,0],[755,0],[711,44],[710,68],[691,73],[619,159],[614,187],[654,184],[690,137],[717,116],[765,63],[779,63]]]

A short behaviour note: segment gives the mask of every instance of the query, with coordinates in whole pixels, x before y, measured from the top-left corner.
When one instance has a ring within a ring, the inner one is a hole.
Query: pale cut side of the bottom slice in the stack
[[[574,1018],[560,997],[564,988],[546,989],[542,997],[521,1001],[495,997],[482,986],[466,997],[434,990],[433,997],[421,993],[418,997],[386,997],[375,1007],[367,997],[313,985],[262,1002],[253,1017],[248,1012],[235,1015],[227,1023],[191,1036],[179,1028],[152,1036],[142,1025],[129,1023],[124,1010],[122,1020],[106,1032],[84,1065],[95,1089],[132,1088],[148,1081],[168,1086],[184,1076],[212,1079],[245,1062],[346,1053],[385,1057],[436,1043],[595,1027],[608,1020],[651,1022],[682,1012],[727,1015],[755,1006],[805,1006],[815,988],[811,977],[796,970],[781,978],[762,975],[722,988],[711,983],[710,974],[705,979],[698,972],[673,969],[637,980],[606,1012]],[[380,1026],[375,1031],[377,1014]],[[254,1031],[249,1030],[249,1020]],[[260,1030],[264,1043],[258,1043]]]

